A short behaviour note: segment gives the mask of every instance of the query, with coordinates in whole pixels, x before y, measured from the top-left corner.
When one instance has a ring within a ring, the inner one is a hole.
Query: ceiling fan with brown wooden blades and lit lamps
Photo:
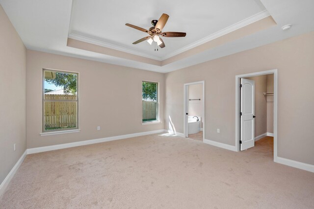
[[[162,14],[161,17],[159,18],[159,20],[152,20],[153,26],[151,28],[149,28],[148,30],[146,30],[142,27],[134,26],[134,25],[127,23],[126,26],[133,27],[137,30],[141,30],[141,31],[149,34],[149,36],[141,38],[141,39],[135,41],[133,44],[138,44],[142,41],[147,40],[147,42],[152,45],[153,41],[155,41],[160,48],[164,48],[165,44],[164,44],[164,42],[160,36],[162,36],[162,37],[185,37],[186,33],[184,33],[184,32],[162,32],[161,31],[162,28],[166,25],[168,18],[169,18],[169,15]]]

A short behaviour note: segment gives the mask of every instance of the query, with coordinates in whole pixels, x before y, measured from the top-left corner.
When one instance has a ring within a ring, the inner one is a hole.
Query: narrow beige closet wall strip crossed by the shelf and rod
[[[267,93],[274,93],[274,74],[267,75]],[[274,96],[265,97],[267,101],[267,132],[274,133]]]

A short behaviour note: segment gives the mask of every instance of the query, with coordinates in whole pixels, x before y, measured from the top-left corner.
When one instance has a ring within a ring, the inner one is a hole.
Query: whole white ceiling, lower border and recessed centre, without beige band
[[[27,49],[63,54],[166,73],[221,56],[252,49],[314,31],[314,0],[0,0]],[[266,9],[266,11],[265,11]],[[163,60],[208,41],[213,34],[268,13],[278,26],[245,36],[196,55],[156,66],[115,56],[67,47],[71,35],[109,48]],[[144,32],[125,26],[149,28],[162,13],[170,18],[163,31],[186,32],[184,38],[163,38],[158,52],[147,42],[131,43]],[[292,24],[283,31],[282,26]]]

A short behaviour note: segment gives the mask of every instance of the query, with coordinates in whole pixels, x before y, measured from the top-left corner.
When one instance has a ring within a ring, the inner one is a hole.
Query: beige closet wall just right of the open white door
[[[255,137],[267,132],[267,104],[264,92],[267,90],[267,75],[247,79],[255,81]]]

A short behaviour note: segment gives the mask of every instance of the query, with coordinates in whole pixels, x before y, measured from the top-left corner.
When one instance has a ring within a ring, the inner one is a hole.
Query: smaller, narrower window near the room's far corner
[[[142,112],[142,123],[159,121],[158,83],[142,81]]]

